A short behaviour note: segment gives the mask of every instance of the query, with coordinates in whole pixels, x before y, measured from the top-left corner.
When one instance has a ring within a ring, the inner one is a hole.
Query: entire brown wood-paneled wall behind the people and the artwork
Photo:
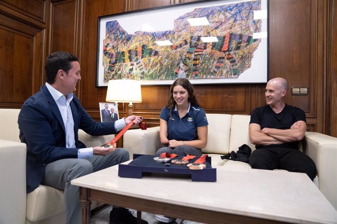
[[[44,83],[44,60],[54,51],[80,58],[76,94],[100,120],[106,87],[95,87],[98,17],[192,0],[2,0],[0,2],[0,107],[20,108]],[[284,77],[308,95],[287,95],[302,108],[308,129],[337,136],[337,6],[335,0],[269,0],[269,77]],[[250,114],[265,104],[265,84],[195,85],[208,113]],[[142,86],[133,113],[159,125],[169,86]],[[127,111],[120,104],[119,111]]]

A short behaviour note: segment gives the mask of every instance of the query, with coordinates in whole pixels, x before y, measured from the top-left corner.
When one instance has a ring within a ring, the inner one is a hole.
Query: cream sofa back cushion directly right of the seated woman
[[[231,114],[207,113],[208,139],[203,153],[228,154],[230,146]]]

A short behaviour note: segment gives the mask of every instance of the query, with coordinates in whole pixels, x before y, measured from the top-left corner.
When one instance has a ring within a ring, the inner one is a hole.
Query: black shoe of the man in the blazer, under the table
[[[110,211],[110,224],[137,224],[137,218],[132,214],[134,212],[124,207],[112,208]],[[148,224],[142,220],[141,224]]]

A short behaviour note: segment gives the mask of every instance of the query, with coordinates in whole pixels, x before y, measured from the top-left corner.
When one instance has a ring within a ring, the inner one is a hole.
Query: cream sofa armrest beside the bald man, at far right
[[[337,138],[307,131],[303,138],[303,152],[316,164],[319,190],[337,209]]]

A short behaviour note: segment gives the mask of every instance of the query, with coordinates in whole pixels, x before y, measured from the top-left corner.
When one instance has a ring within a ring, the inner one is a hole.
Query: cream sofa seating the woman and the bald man
[[[212,167],[233,171],[251,168],[247,163],[220,158],[221,155],[237,151],[243,144],[247,144],[252,150],[255,149],[248,135],[250,115],[207,114],[207,119],[208,143],[202,151],[211,156]],[[124,134],[123,142],[124,148],[140,154],[154,154],[162,146],[159,127],[148,128],[145,131],[128,130]],[[337,209],[337,138],[307,131],[300,148],[316,164],[317,177],[314,183]]]

